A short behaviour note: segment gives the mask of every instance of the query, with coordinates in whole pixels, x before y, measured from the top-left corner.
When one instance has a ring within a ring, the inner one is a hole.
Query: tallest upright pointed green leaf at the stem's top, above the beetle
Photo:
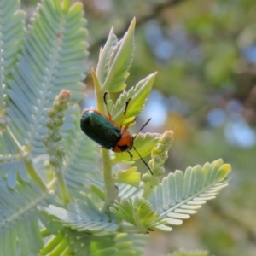
[[[102,85],[103,91],[118,92],[126,87],[125,80],[129,75],[128,70],[134,51],[134,27],[135,19],[131,21],[124,38],[113,48],[108,61],[108,74]]]

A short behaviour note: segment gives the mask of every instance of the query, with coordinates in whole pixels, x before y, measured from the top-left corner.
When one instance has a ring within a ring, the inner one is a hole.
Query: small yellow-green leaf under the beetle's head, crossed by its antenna
[[[160,138],[159,133],[138,133],[136,139],[134,140],[134,147],[141,154],[141,156],[148,155],[152,148],[156,145]],[[139,159],[137,152],[131,148],[131,154],[133,155],[132,160]],[[111,156],[111,162],[113,164],[120,161],[131,161],[130,155],[127,152],[124,153],[114,153]]]

